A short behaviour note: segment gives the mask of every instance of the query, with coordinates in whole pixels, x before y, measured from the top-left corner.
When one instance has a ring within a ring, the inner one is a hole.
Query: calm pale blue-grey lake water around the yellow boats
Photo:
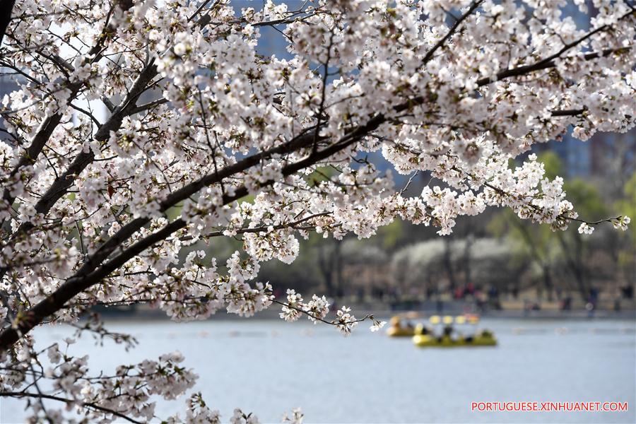
[[[140,346],[98,348],[86,336],[72,347],[106,371],[179,350],[225,422],[235,406],[264,423],[279,423],[298,406],[307,423],[636,422],[635,322],[483,319],[480,326],[495,331],[499,346],[422,349],[410,338],[371,333],[366,323],[345,338],[306,321],[245,319],[112,322],[112,331],[133,334]],[[37,333],[46,346],[72,331]],[[472,401],[627,401],[630,411],[479,413]],[[0,422],[20,422],[22,408],[1,399]],[[177,411],[181,400],[158,404],[156,413]]]

